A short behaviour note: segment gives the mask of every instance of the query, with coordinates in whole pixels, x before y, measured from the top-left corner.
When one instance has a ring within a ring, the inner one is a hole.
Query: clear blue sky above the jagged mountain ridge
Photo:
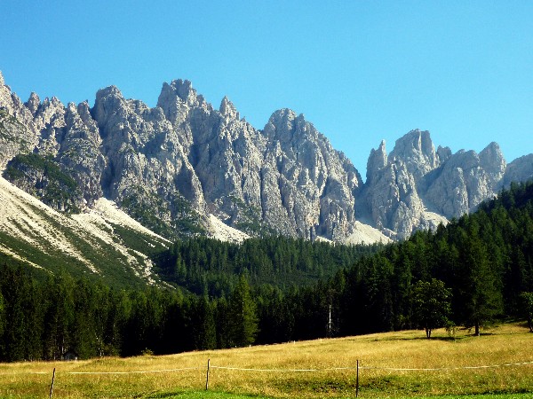
[[[0,0],[0,70],[22,100],[115,84],[155,106],[188,79],[262,129],[288,107],[362,175],[410,129],[533,153],[533,1]]]

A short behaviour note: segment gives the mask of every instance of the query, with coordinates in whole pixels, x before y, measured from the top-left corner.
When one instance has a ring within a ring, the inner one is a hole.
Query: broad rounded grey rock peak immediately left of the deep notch
[[[303,115],[274,113],[265,126],[263,209],[300,237],[342,239],[352,231],[361,176]],[[272,195],[277,191],[279,195]],[[274,210],[272,212],[271,210]],[[276,223],[271,220],[270,223]]]

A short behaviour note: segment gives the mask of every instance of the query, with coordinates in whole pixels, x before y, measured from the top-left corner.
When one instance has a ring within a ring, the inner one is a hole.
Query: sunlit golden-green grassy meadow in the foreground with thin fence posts
[[[502,325],[481,337],[459,331],[455,340],[441,330],[432,340],[420,331],[389,332],[173,356],[0,364],[0,396],[48,397],[55,367],[54,398],[347,398],[355,397],[359,360],[362,398],[525,399],[533,398],[531,348],[524,325]],[[480,366],[491,367],[470,368]]]

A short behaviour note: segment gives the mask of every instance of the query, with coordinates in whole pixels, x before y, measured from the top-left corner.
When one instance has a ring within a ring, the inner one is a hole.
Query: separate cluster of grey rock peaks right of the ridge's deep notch
[[[360,214],[389,236],[406,238],[417,229],[471,212],[500,190],[505,159],[496,143],[481,153],[434,150],[429,132],[412,130],[387,156],[385,143],[370,152]],[[523,178],[527,178],[522,176]],[[441,215],[441,217],[435,217]]]

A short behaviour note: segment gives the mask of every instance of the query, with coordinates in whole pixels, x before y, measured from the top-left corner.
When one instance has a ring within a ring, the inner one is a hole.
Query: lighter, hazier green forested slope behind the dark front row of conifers
[[[256,287],[287,291],[309,286],[384,247],[331,245],[282,236],[246,239],[242,244],[195,238],[176,241],[156,261],[159,275],[174,286],[220,297],[231,293],[243,274]]]

